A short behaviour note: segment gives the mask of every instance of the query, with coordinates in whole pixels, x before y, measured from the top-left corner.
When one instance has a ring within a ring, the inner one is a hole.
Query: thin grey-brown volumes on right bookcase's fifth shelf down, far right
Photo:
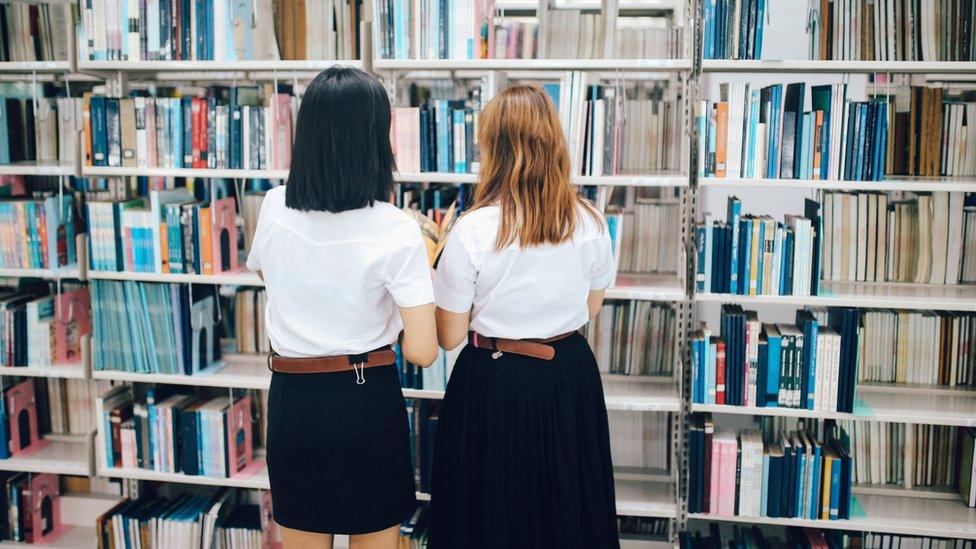
[[[958,427],[882,421],[843,421],[851,434],[853,482],[913,486],[952,486],[961,463]]]

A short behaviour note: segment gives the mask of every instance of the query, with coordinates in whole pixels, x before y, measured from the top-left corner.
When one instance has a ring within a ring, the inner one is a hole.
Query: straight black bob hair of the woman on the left
[[[389,202],[394,169],[383,85],[352,67],[319,73],[298,109],[285,205],[338,213]]]

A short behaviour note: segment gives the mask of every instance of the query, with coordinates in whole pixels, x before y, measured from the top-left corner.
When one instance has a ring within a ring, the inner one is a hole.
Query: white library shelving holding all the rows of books
[[[367,2],[369,5],[370,2]],[[552,9],[549,2],[499,2],[496,12],[508,15],[541,16]],[[541,7],[540,7],[541,6]],[[690,352],[688,339],[697,320],[717,310],[718,304],[735,303],[762,311],[789,311],[802,307],[857,307],[976,312],[976,286],[909,283],[857,283],[821,281],[816,296],[730,295],[700,293],[694,288],[694,239],[696,219],[703,212],[709,193],[761,192],[771,201],[788,192],[807,191],[880,191],[880,192],[976,192],[973,177],[887,176],[881,181],[841,181],[778,178],[698,177],[696,169],[697,136],[691,106],[708,94],[702,89],[709,78],[757,78],[770,81],[782,78],[795,81],[804,75],[819,79],[866,78],[868,75],[907,74],[914,78],[939,80],[948,76],[965,81],[976,73],[976,62],[956,61],[822,61],[822,60],[713,60],[701,59],[701,18],[698,0],[647,0],[611,2],[580,1],[560,4],[560,8],[584,11],[616,10],[614,17],[629,12],[667,12],[675,17],[678,32],[685,38],[682,51],[673,59],[383,59],[373,51],[367,33],[364,50],[375,56],[351,60],[246,60],[246,61],[91,61],[72,59],[56,62],[2,62],[0,76],[25,81],[71,82],[97,79],[105,83],[109,94],[124,94],[133,85],[188,82],[307,82],[319,71],[336,64],[353,65],[372,70],[388,84],[394,99],[398,83],[415,80],[462,80],[483,78],[489,82],[488,97],[506,81],[558,80],[562,74],[586,72],[596,81],[663,80],[680,89],[678,120],[678,165],[675,170],[627,175],[574,175],[580,186],[615,187],[627,190],[659,188],[677,190],[681,212],[681,264],[686,269],[674,274],[621,274],[608,289],[608,299],[656,301],[670,303],[677,316],[678,360],[673,374],[663,383],[645,383],[635,376],[604,376],[608,410],[634,413],[664,413],[671,422],[669,446],[671,469],[646,478],[647,475],[617,472],[618,513],[628,516],[659,517],[670,522],[669,540],[696,521],[722,521],[740,524],[801,526],[837,530],[860,530],[911,535],[930,535],[976,539],[976,514],[964,507],[952,493],[933,487],[906,490],[895,486],[855,485],[853,493],[858,513],[851,519],[822,521],[769,517],[720,517],[687,512],[686,472],[688,444],[685,440],[690,414],[710,413],[733,420],[750,418],[804,418],[863,420],[957,427],[976,426],[976,391],[971,388],[915,386],[908,384],[860,383],[851,413],[811,411],[794,408],[759,408],[695,404],[690,402]],[[778,15],[781,17],[781,15]],[[366,28],[373,22],[367,14]],[[612,18],[608,18],[612,19]],[[83,56],[82,56],[83,57]],[[821,80],[822,81],[822,80]],[[711,99],[711,98],[709,98]],[[397,104],[396,102],[394,104]],[[79,152],[79,156],[82,153]],[[82,159],[76,162],[81,165]],[[58,176],[81,175],[87,178],[192,178],[192,179],[271,179],[284,180],[287,169],[193,169],[81,166],[60,163],[17,163],[0,165],[0,175]],[[477,183],[474,173],[403,172],[395,174],[402,183],[461,185]],[[85,246],[79,246],[79,250]],[[686,259],[687,258],[687,259]],[[108,272],[89,270],[87,261],[80,266],[56,270],[0,269],[0,277],[30,277],[48,280],[117,280],[168,282],[226,287],[263,287],[254,273],[237,271],[213,275]],[[779,314],[779,313],[777,313]],[[84,346],[88,349],[87,344]],[[93,370],[87,358],[78,365],[35,367],[0,371],[0,376],[90,379],[114,384],[163,384],[217,389],[267,390],[270,372],[263,356],[224,354],[222,361],[194,376],[139,374],[122,371]],[[404,388],[407,398],[441,399],[443,391]],[[246,478],[212,478],[181,473],[160,473],[136,468],[106,468],[96,464],[90,435],[53,437],[50,444],[36,454],[0,461],[0,470],[55,472],[61,474],[97,474],[129,481],[138,492],[138,482],[153,481],[204,486],[228,486],[268,489],[266,469]],[[418,493],[419,500],[429,495]],[[86,523],[78,526],[54,547],[87,546],[93,536]],[[79,537],[80,536],[80,537]],[[87,536],[87,537],[85,537]],[[81,541],[81,540],[84,541]],[[75,545],[71,545],[75,543]],[[622,546],[651,547],[661,542],[623,540]],[[0,543],[0,545],[7,545]]]

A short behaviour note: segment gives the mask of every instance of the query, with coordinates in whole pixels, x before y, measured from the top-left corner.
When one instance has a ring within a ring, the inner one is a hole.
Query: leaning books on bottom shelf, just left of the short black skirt
[[[271,492],[206,489],[125,498],[95,519],[103,549],[266,549],[278,538]]]

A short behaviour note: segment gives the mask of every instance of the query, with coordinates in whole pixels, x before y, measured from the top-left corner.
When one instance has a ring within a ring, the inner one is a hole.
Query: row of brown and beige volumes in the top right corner
[[[835,2],[810,7],[810,59],[974,61],[976,6],[947,2]]]

